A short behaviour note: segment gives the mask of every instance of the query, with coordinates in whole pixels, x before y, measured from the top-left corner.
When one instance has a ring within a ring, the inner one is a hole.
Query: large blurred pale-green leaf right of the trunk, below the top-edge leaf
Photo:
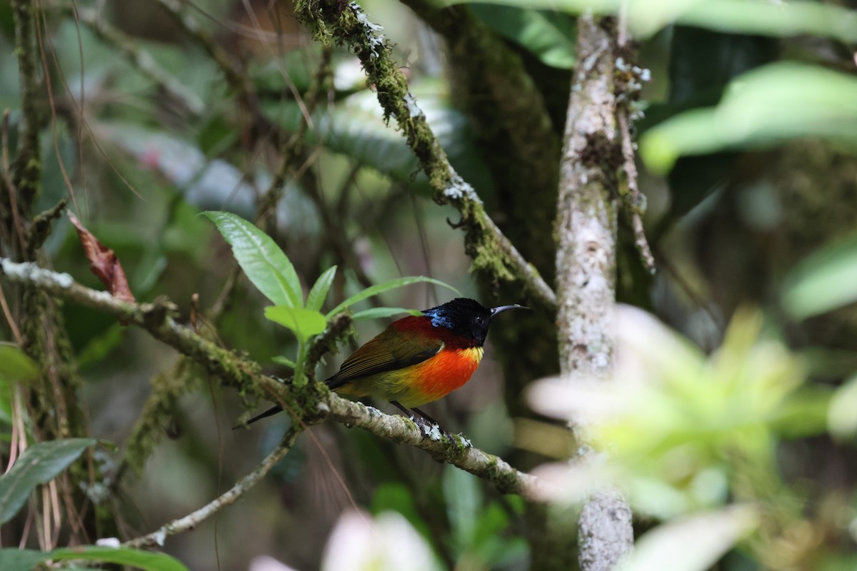
[[[827,137],[857,145],[857,78],[778,62],[735,78],[716,107],[689,110],[650,128],[640,155],[665,172],[683,155]]]

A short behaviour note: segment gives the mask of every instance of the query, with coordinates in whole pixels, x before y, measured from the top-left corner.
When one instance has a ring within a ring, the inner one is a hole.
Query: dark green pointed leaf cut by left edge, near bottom
[[[26,449],[9,473],[0,476],[0,524],[15,517],[37,485],[56,478],[95,442],[93,438],[66,438]]]

